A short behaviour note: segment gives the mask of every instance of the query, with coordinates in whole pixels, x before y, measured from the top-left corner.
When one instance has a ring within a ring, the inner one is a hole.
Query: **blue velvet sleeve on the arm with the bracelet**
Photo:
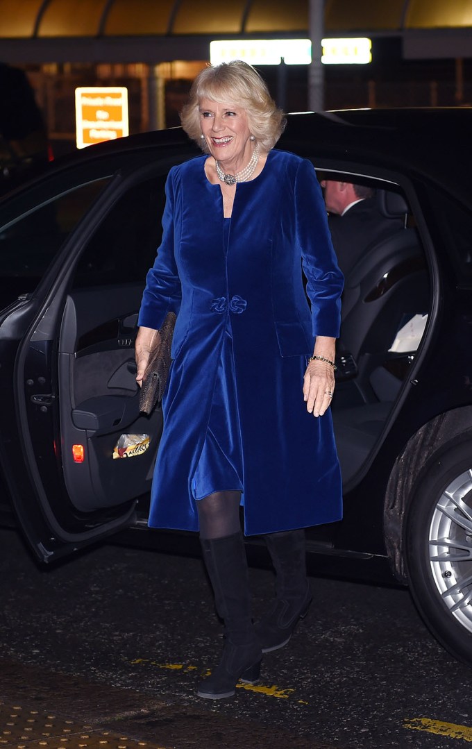
[[[297,240],[312,308],[312,333],[337,338],[344,278],[333,250],[321,187],[312,163],[306,159],[297,169],[294,195]]]

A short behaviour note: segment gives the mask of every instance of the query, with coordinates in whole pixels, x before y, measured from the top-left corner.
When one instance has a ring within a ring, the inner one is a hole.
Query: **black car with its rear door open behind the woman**
[[[471,109],[289,115],[280,147],[319,178],[374,187],[394,235],[343,295],[333,401],[342,522],[308,530],[318,574],[406,584],[426,624],[472,662]],[[160,241],[178,128],[85,149],[0,202],[4,508],[45,562],[148,530],[160,409],[139,413],[133,341]],[[126,530],[125,529],[131,529]],[[262,558],[261,539],[247,539]]]

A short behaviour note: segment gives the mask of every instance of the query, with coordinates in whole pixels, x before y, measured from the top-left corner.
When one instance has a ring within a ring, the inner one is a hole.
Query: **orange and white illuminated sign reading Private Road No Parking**
[[[127,88],[76,88],[77,148],[127,136]]]

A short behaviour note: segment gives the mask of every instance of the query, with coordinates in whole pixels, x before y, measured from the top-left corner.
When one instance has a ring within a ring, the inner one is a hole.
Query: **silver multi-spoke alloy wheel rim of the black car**
[[[472,470],[450,482],[435,506],[429,562],[444,604],[472,632]]]

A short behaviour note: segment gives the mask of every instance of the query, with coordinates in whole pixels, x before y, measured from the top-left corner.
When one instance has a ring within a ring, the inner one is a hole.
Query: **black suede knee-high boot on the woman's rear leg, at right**
[[[308,613],[312,594],[306,579],[305,531],[270,533],[264,539],[276,571],[276,598],[255,624],[265,653],[288,643],[299,619]]]

